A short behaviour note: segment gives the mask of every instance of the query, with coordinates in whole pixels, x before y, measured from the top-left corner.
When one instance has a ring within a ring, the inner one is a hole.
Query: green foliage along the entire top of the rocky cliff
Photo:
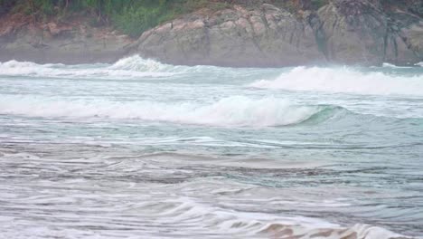
[[[255,5],[268,2],[296,14],[315,11],[334,0],[0,0],[0,16],[7,13],[31,15],[34,23],[63,22],[86,17],[92,26],[108,25],[134,38],[147,29],[178,15],[202,7],[219,10],[233,4]],[[341,0],[338,0],[341,1]],[[369,0],[381,3],[387,12],[402,9],[423,16],[421,0]]]

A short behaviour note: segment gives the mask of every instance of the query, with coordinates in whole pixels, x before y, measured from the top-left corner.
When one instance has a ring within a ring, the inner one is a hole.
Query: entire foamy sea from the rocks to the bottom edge
[[[423,238],[423,66],[0,62],[0,238]]]

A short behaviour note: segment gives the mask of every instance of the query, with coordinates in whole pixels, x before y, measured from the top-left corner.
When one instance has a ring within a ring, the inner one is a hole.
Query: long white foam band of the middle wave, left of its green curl
[[[297,106],[273,97],[233,96],[212,103],[60,100],[2,96],[0,113],[30,117],[109,118],[167,121],[211,126],[280,126],[301,122],[319,107]]]

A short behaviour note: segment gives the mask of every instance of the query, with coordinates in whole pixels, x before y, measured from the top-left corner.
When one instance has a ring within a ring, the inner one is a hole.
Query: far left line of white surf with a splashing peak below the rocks
[[[113,64],[38,64],[34,62],[17,62],[14,60],[9,62],[0,62],[0,76],[31,78],[149,80],[156,78],[168,79],[172,76],[185,77],[186,75],[193,73],[199,74],[199,77],[203,77],[204,74],[223,74],[237,78],[243,77],[242,72],[257,72],[257,70],[222,68],[205,65],[172,65],[157,62],[152,59],[144,59],[139,55],[122,58]]]

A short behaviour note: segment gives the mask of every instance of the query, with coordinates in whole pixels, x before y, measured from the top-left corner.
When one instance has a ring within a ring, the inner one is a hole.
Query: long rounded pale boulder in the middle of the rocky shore
[[[189,65],[280,66],[324,59],[309,24],[268,4],[186,15],[143,33],[137,52]]]

